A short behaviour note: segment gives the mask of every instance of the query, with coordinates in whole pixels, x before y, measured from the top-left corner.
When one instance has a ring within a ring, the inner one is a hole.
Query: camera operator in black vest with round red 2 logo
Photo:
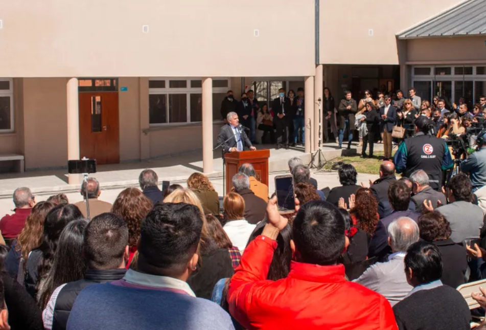
[[[415,135],[405,139],[395,153],[394,163],[397,173],[409,178],[415,170],[423,169],[429,175],[430,186],[442,187],[442,171],[452,168],[451,154],[446,142],[429,135],[434,124],[424,116],[415,120]]]

